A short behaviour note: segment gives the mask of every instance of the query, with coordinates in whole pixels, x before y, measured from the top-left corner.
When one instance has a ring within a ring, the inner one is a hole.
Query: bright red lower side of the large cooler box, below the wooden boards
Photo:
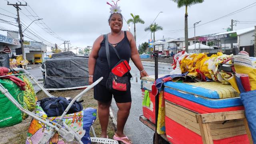
[[[202,137],[195,132],[165,117],[166,136],[172,144],[203,144]],[[213,140],[214,144],[249,144],[246,134]]]

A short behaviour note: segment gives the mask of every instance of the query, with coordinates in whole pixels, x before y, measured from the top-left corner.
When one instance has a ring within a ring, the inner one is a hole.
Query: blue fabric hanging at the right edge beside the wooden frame
[[[252,140],[256,144],[256,90],[240,94],[244,104],[245,115],[252,134]]]

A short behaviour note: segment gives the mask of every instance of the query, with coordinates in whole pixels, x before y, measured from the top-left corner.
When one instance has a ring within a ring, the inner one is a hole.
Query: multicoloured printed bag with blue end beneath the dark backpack
[[[65,115],[62,121],[68,126],[82,126],[85,132],[84,136],[82,137],[82,142],[84,144],[90,144],[90,126],[96,120],[96,112],[97,110],[94,108],[86,108],[80,112]],[[36,104],[36,115],[53,122],[58,122],[60,119],[60,116],[48,118],[40,106],[40,102],[37,102]],[[36,119],[32,119],[28,128],[26,144],[38,144],[45,130],[50,131],[51,128]],[[56,134],[47,142],[47,144],[66,144],[66,142],[64,142],[61,136],[56,132]]]

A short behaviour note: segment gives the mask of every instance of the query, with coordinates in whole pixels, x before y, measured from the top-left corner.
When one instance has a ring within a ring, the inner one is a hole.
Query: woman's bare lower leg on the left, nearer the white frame
[[[99,116],[100,127],[101,127],[101,136],[100,136],[101,138],[107,138],[110,104],[111,104],[111,100],[107,103],[98,101],[98,116]]]

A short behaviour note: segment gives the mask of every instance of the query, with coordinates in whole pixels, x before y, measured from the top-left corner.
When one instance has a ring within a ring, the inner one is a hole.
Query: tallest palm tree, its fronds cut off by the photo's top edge
[[[186,6],[186,13],[185,13],[185,50],[188,52],[188,6],[192,6],[194,4],[199,4],[204,2],[204,0],[172,0],[173,2],[177,3],[178,8],[182,6]]]

